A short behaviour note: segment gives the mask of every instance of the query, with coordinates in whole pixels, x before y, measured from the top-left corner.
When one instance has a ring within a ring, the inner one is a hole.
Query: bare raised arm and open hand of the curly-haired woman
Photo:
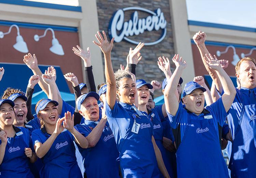
[[[108,38],[104,31],[102,31],[104,38],[97,32],[96,38],[99,43],[93,41],[103,52],[104,54],[104,61],[105,61],[105,77],[106,77],[106,84],[107,84],[107,91],[106,91],[106,102],[108,103],[111,109],[114,108],[116,102],[116,81],[115,75],[112,67],[111,62],[111,50],[113,48],[114,38],[111,39],[109,43]]]

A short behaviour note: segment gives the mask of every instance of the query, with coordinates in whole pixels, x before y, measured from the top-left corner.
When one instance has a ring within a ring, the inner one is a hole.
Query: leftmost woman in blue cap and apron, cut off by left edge
[[[0,100],[0,177],[34,177],[29,169],[37,160],[32,153],[32,142],[29,131],[15,127],[14,103],[11,100]]]

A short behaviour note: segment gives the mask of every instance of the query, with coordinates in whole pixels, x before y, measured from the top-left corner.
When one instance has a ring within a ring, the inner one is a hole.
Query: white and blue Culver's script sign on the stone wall
[[[131,19],[127,22],[124,21],[125,11],[134,10],[131,15]],[[145,18],[139,18],[137,11],[143,11],[149,14]],[[127,7],[119,9],[113,15],[109,25],[109,36],[110,39],[115,38],[115,42],[126,40],[133,44],[139,44],[139,41],[129,39],[133,35],[143,34],[144,31],[162,30],[162,34],[158,40],[152,42],[144,42],[146,46],[154,45],[161,42],[166,36],[166,20],[161,12],[160,8],[156,12],[147,10],[141,7]]]

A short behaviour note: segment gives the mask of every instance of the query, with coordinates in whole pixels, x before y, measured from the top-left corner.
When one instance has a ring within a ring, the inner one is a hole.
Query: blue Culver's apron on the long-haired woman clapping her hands
[[[42,158],[44,165],[40,171],[40,177],[82,178],[76,162],[75,146],[68,132],[68,130],[61,132]],[[51,136],[48,133],[44,135],[45,141]]]

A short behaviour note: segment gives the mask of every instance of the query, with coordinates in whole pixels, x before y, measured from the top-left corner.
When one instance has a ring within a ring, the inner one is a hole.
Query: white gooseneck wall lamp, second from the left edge
[[[46,32],[50,30],[52,31],[53,33],[53,39],[52,39],[52,47],[50,48],[50,51],[54,54],[58,54],[58,55],[64,55],[64,51],[63,51],[63,48],[61,46],[61,44],[59,43],[59,41],[55,38],[55,34],[54,34],[54,31],[52,28],[47,28],[45,31],[44,31],[44,34],[42,36],[38,36],[38,35],[34,35],[34,40],[35,41],[39,41],[40,38],[43,38],[45,37],[46,35]]]

